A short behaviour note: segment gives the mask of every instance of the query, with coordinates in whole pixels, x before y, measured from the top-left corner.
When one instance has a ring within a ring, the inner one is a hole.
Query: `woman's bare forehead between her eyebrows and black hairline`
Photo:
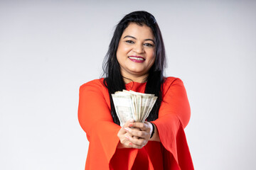
[[[127,28],[125,28],[124,32],[122,33],[122,37],[131,35],[135,38],[143,38],[143,39],[154,39],[154,34],[146,25],[139,26],[137,23],[129,23]]]

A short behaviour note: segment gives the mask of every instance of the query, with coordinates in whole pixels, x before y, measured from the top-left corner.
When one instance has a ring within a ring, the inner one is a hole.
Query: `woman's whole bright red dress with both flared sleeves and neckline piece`
[[[127,90],[144,93],[146,83],[131,82]],[[110,96],[103,79],[80,86],[78,120],[85,130],[89,149],[85,169],[193,169],[183,128],[190,106],[181,79],[166,78],[159,118],[152,121],[161,142],[149,141],[142,149],[117,149],[119,125],[110,114]]]

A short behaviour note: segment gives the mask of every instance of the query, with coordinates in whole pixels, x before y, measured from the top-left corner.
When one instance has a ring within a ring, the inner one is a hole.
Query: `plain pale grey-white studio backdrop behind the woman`
[[[0,1],[0,169],[84,169],[78,89],[114,26],[149,11],[191,104],[195,169],[256,169],[255,1]]]

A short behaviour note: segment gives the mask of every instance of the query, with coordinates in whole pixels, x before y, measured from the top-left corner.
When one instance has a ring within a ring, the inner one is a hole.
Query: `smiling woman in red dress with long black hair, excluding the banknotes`
[[[183,128],[190,106],[183,82],[164,77],[161,31],[146,11],[117,24],[105,78],[80,86],[78,119],[89,140],[85,169],[193,169]],[[145,123],[119,126],[111,94],[122,89],[158,96]]]

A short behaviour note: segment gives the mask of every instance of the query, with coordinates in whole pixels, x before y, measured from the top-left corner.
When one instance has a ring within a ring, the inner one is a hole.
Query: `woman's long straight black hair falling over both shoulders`
[[[162,101],[162,84],[164,83],[164,68],[166,66],[166,53],[164,49],[164,41],[161,35],[156,19],[151,13],[146,11],[134,11],[127,14],[122,18],[121,21],[117,24],[114,35],[110,42],[107,55],[103,62],[103,72],[105,75],[104,84],[107,87],[110,94],[110,106],[111,106],[111,115],[114,120],[114,123],[120,125],[117,113],[114,109],[114,103],[112,100],[111,94],[114,94],[115,91],[122,91],[125,89],[124,79],[120,72],[120,65],[117,61],[117,47],[119,45],[119,40],[124,32],[125,28],[129,26],[129,23],[137,23],[139,26],[148,26],[151,28],[154,38],[156,40],[156,60],[152,67],[149,69],[149,76],[146,79],[146,89],[145,94],[155,94],[158,96],[154,107],[149,113],[147,121],[156,120],[159,115],[159,108]]]

